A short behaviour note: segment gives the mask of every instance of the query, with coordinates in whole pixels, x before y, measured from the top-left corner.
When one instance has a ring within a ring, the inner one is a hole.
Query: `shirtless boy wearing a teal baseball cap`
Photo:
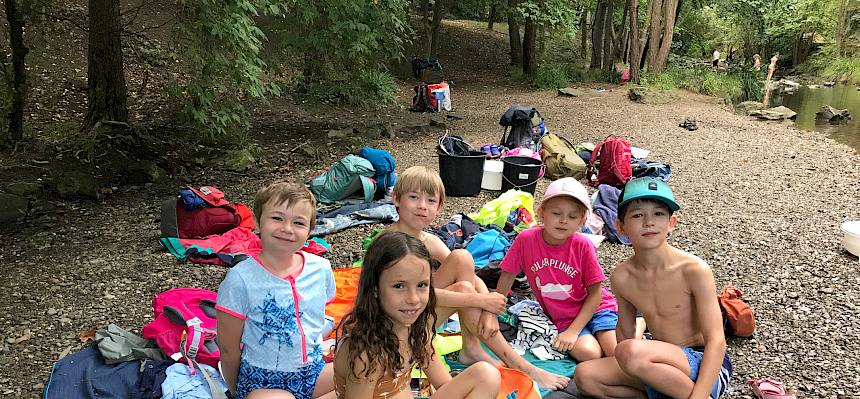
[[[668,243],[680,206],[662,180],[630,180],[618,198],[618,231],[633,256],[612,271],[618,301],[615,357],[583,362],[574,381],[596,397],[719,398],[729,386],[722,317],[711,268]],[[635,339],[636,312],[653,339]]]

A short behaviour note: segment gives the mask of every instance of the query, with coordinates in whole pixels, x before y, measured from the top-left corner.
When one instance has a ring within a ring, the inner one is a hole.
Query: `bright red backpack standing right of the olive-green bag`
[[[607,137],[594,147],[591,153],[591,161],[585,172],[589,184],[608,184],[623,188],[633,175],[631,158],[630,143],[627,140],[614,135]]]

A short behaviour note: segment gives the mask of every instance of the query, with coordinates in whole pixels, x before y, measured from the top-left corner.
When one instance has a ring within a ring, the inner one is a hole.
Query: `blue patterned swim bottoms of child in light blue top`
[[[283,389],[292,393],[296,399],[311,399],[323,366],[325,362],[320,358],[297,371],[283,372],[242,362],[239,365],[236,398],[243,399],[255,389]]]

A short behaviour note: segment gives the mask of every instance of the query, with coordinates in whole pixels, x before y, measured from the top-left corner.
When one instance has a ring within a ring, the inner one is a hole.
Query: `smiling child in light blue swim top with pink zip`
[[[257,192],[254,219],[262,252],[233,266],[218,289],[224,379],[239,399],[332,398],[321,338],[334,275],[329,261],[299,251],[316,199],[301,183],[273,183]]]

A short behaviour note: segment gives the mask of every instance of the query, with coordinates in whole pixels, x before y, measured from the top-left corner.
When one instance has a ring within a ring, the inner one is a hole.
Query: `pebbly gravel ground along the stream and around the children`
[[[455,83],[469,82],[452,88],[456,113],[464,119],[448,127],[472,144],[497,142],[500,113],[511,103],[527,103],[540,109],[551,131],[572,142],[620,134],[651,150],[651,159],[671,164],[682,207],[672,244],[707,261],[718,287],[734,284],[756,312],[755,336],[729,342],[735,374],[728,397],[751,397],[745,381],[761,376],[784,380],[799,397],[860,397],[860,264],[843,250],[839,231],[841,222],[860,220],[860,156],[854,150],[789,124],[736,115],[704,96],[678,93],[666,104],[643,105],[616,88],[563,98],[487,78],[480,68],[467,73],[458,67],[452,60],[446,72]],[[409,98],[404,85],[400,101]],[[158,292],[217,289],[226,269],[179,264],[156,241],[159,204],[180,184],[216,184],[228,199],[250,201],[265,182],[307,178],[351,150],[324,140],[307,144],[302,132],[367,118],[341,113],[322,120],[277,103],[261,114],[255,130],[264,155],[246,174],[200,170],[169,183],[120,188],[102,203],[58,203],[55,213],[0,235],[7,276],[0,281],[0,394],[39,397],[52,363],[82,346],[82,331],[115,323],[139,332]],[[395,127],[428,118],[403,107],[377,117]],[[678,128],[685,117],[695,118],[700,129]],[[438,134],[399,134],[370,144],[389,149],[399,171],[435,167]],[[302,145],[315,145],[322,155],[302,158],[293,151]],[[538,192],[547,184],[542,180]],[[477,210],[496,194],[450,198],[437,222]],[[370,229],[326,237],[332,262],[345,266],[357,258]],[[630,253],[612,244],[598,250],[607,273]]]

